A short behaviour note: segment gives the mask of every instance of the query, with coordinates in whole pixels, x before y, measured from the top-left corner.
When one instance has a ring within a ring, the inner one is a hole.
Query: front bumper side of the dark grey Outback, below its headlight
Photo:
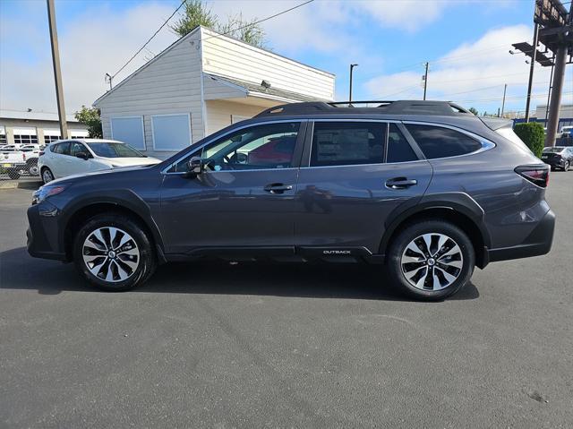
[[[59,210],[49,202],[41,202],[28,209],[30,227],[26,231],[28,253],[34,258],[67,262],[64,243],[60,242]]]

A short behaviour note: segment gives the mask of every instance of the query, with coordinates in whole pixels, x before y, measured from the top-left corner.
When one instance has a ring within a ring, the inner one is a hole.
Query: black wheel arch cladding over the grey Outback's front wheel
[[[69,261],[72,260],[73,236],[78,227],[98,214],[117,213],[130,217],[141,225],[157,252],[158,262],[165,262],[163,239],[155,220],[151,217],[150,208],[132,191],[121,191],[107,198],[85,195],[81,201],[75,202],[73,207],[66,208],[65,211],[70,214],[64,220],[64,233],[60,238]]]

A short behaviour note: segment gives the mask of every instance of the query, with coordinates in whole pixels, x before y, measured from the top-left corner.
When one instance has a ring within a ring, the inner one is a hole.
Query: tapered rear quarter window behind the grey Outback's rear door
[[[406,124],[427,159],[457,157],[482,149],[482,144],[464,133],[432,125]]]

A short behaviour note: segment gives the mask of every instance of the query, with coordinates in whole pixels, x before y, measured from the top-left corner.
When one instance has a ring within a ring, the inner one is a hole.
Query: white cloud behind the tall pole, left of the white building
[[[35,3],[40,6],[32,11],[37,13],[35,19],[29,24],[19,22],[17,31],[4,26],[8,20],[1,22],[2,37],[7,38],[4,40],[20,47],[32,61],[4,56],[0,62],[0,106],[54,112],[56,90],[47,24],[41,27],[34,25],[47,21],[46,4]],[[89,106],[103,94],[107,90],[105,73],[115,73],[172,12],[172,6],[167,4],[144,3],[123,13],[94,4],[73,22],[67,22],[65,26],[58,22],[66,112],[71,114],[82,104]],[[164,29],[150,43],[150,51],[157,55],[175,39]],[[115,82],[144,64],[146,56],[151,55],[148,52],[137,56]]]

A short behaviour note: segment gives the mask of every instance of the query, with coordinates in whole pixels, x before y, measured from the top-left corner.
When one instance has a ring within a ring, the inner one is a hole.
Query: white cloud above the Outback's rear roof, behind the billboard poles
[[[466,106],[497,106],[507,83],[508,106],[525,108],[525,99],[520,98],[526,94],[529,65],[525,56],[509,55],[509,49],[512,43],[530,39],[531,34],[532,29],[526,25],[490,30],[475,42],[463,43],[447,55],[430,61],[428,99],[449,99]],[[550,70],[549,67],[535,67],[534,94],[547,90]],[[375,77],[364,83],[364,90],[373,99],[420,99],[422,74],[423,64],[420,63],[414,71]],[[544,102],[540,96],[534,99],[532,106]]]

